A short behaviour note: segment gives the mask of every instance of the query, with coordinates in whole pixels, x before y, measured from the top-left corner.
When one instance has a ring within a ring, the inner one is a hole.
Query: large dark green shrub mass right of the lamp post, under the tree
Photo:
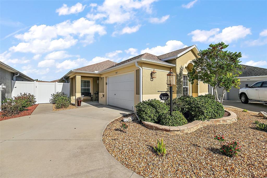
[[[166,104],[170,105],[170,100],[166,101]],[[174,98],[172,109],[174,111],[180,111],[188,122],[217,119],[224,115],[223,105],[210,95]]]

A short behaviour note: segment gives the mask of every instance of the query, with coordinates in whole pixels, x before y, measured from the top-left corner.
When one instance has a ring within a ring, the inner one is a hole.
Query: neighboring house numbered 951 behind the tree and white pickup
[[[238,76],[240,79],[241,84],[239,85],[239,88],[244,88],[246,84],[249,86],[253,85],[254,83],[262,80],[267,80],[267,69],[261,68],[261,67],[253,67],[249,65],[243,65],[245,67],[242,69],[242,74]],[[222,88],[217,88],[219,97],[222,96]],[[225,93],[224,100],[235,100],[239,101],[238,98],[238,88],[232,87],[229,92]],[[212,88],[209,86],[209,93],[213,94]]]

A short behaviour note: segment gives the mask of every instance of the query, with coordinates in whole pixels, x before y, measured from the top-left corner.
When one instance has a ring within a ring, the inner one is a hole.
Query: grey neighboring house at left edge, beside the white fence
[[[0,84],[3,83],[6,86],[6,88],[1,91],[1,101],[6,98],[11,98],[12,80],[26,82],[34,81],[27,75],[24,75],[23,73],[0,61]]]

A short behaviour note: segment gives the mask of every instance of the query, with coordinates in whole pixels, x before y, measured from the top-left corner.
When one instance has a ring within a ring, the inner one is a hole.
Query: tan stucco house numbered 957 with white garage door
[[[147,99],[159,99],[160,92],[167,91],[167,73],[176,73],[173,97],[182,95],[208,94],[208,85],[195,81],[188,82],[187,73],[192,69],[191,60],[198,57],[199,50],[193,45],[164,55],[155,56],[144,53],[120,63],[110,60],[73,69],[58,82],[70,83],[71,102],[76,103],[78,96],[99,93],[99,103],[125,109]],[[156,71],[156,78],[151,72]]]

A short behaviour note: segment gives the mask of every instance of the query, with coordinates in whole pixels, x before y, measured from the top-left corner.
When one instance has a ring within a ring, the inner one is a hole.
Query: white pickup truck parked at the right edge
[[[267,80],[256,82],[252,86],[246,84],[245,88],[239,89],[238,95],[244,104],[248,104],[249,101],[267,103]]]

